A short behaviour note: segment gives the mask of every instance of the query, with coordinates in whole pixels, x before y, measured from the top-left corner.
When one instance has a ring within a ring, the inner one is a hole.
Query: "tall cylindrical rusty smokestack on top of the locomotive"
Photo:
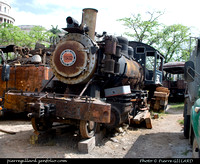
[[[95,36],[97,12],[98,10],[92,8],[85,8],[82,12],[81,28],[83,29],[85,26],[89,27],[88,35],[92,40],[94,40]]]

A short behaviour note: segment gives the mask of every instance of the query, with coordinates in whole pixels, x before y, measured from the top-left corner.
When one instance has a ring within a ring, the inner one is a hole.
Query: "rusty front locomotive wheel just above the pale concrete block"
[[[82,138],[92,138],[96,132],[97,123],[94,121],[80,121],[80,133]]]

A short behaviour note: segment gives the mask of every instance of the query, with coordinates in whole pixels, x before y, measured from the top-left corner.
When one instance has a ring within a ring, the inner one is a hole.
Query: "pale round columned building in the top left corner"
[[[10,23],[13,24],[15,19],[10,15],[11,6],[5,2],[0,0],[0,24],[1,23]]]

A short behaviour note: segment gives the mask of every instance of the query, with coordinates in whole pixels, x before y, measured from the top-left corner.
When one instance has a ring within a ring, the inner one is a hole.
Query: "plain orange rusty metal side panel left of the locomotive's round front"
[[[0,74],[2,72],[2,66],[0,66]],[[34,65],[25,66],[11,66],[10,67],[10,79],[7,82],[8,89],[16,89],[23,91],[34,92],[42,88],[42,81],[49,80],[51,78],[51,71],[49,67]],[[6,90],[6,82],[0,78],[0,96]]]

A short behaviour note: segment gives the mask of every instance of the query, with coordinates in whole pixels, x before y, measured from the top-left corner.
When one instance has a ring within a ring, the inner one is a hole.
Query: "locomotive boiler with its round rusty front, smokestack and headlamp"
[[[135,88],[143,81],[143,71],[133,60],[133,52],[130,50],[128,54],[128,40],[104,35],[96,42],[96,14],[97,10],[84,9],[81,25],[72,17],[66,19],[68,34],[52,56],[51,68],[55,76],[69,85],[84,84],[94,77],[104,81],[113,79],[112,86],[119,85],[116,83],[120,81],[121,85]]]

